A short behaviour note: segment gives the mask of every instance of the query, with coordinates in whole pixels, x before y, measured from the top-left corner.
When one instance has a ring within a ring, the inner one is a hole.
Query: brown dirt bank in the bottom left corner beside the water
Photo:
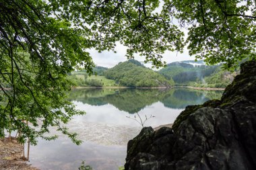
[[[24,161],[23,146],[16,138],[0,140],[0,170],[39,170]]]

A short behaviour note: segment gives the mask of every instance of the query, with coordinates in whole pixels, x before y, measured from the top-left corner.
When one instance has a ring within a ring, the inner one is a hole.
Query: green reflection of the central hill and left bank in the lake
[[[159,89],[75,89],[68,94],[70,100],[90,105],[110,103],[119,110],[134,114],[152,105],[164,96]]]

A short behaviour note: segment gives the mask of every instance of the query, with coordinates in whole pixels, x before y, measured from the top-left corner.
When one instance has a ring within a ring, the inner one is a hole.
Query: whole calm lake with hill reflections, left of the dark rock
[[[195,89],[73,89],[68,99],[86,115],[67,124],[84,142],[77,146],[59,134],[30,146],[30,163],[44,169],[78,169],[82,161],[94,170],[115,170],[125,163],[127,142],[142,126],[171,124],[187,105],[220,99],[223,91]],[[53,128],[53,133],[55,129]]]

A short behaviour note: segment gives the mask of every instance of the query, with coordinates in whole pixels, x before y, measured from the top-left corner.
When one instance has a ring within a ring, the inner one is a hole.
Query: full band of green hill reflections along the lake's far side
[[[222,92],[194,89],[74,89],[67,95],[70,100],[90,105],[110,103],[119,110],[134,114],[157,101],[162,102],[166,108],[183,109],[187,105],[218,99]]]

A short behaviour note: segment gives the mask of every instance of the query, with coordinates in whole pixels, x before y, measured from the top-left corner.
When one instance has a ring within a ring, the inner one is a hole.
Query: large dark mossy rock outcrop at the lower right
[[[125,169],[256,169],[256,61],[241,65],[221,100],[187,106],[172,128],[143,128]]]

